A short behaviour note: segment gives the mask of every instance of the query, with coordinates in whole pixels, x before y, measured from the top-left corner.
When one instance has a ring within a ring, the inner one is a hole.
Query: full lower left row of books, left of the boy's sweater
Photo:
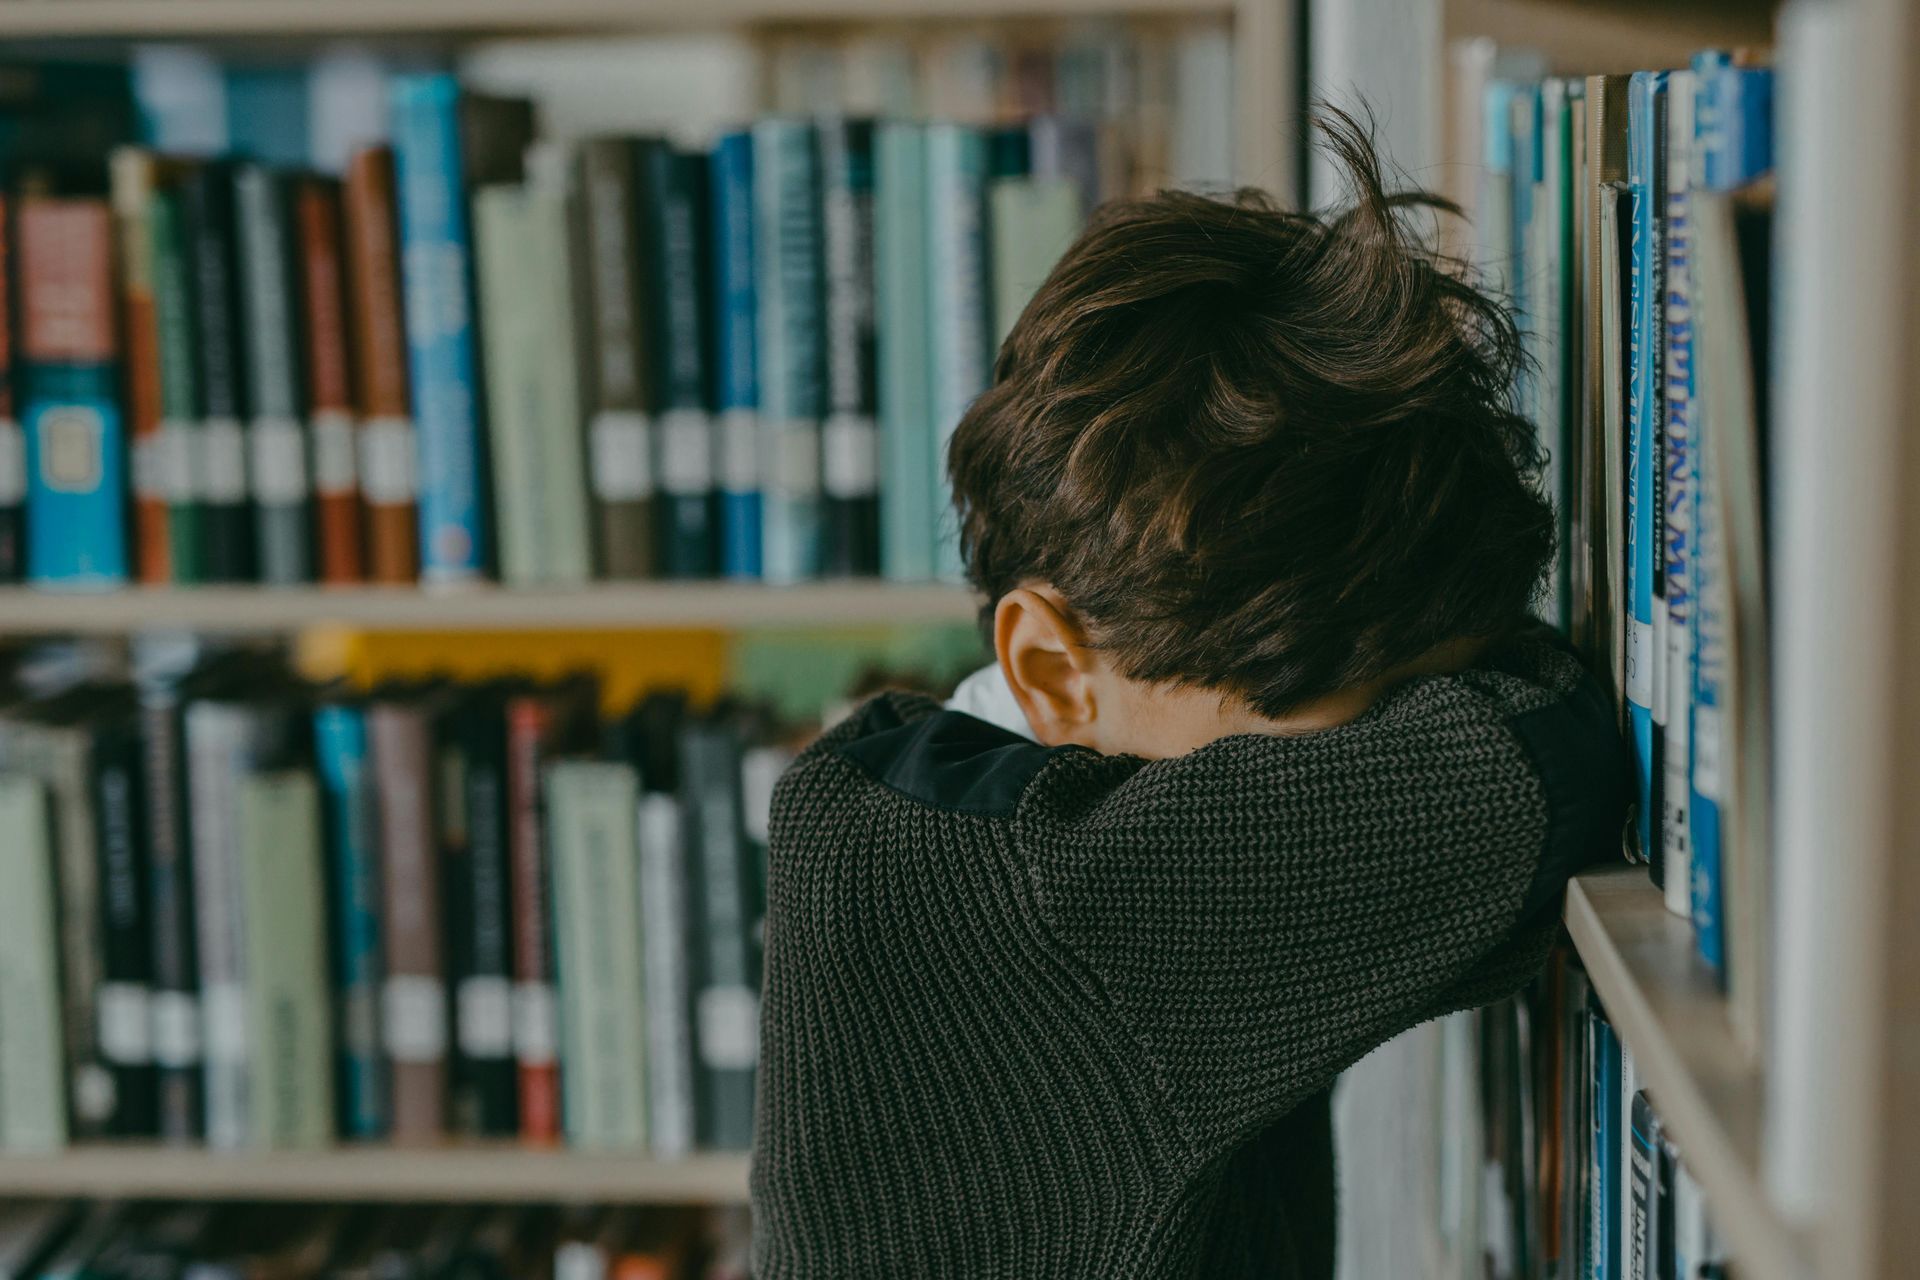
[[[743,1150],[766,716],[273,654],[0,708],[0,1148]]]

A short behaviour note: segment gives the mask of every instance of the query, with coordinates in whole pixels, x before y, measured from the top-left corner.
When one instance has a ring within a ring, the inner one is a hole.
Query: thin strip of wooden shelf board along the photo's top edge
[[[1233,0],[0,0],[0,35],[478,35],[1231,12]]]

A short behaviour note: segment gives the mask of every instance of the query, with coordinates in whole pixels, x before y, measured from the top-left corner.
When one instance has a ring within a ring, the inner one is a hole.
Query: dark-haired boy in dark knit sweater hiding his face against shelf
[[[1029,735],[906,695],[774,800],[760,1280],[1332,1276],[1329,1086],[1619,848],[1507,313],[1404,225],[1102,209],[952,449]]]

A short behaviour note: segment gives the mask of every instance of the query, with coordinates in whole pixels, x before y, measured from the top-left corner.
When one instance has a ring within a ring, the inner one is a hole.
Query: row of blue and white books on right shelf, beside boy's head
[[[1496,67],[1498,69],[1498,67]],[[1774,73],[1482,90],[1480,261],[1519,311],[1561,557],[1546,608],[1609,674],[1630,852],[1757,1025],[1764,984]]]

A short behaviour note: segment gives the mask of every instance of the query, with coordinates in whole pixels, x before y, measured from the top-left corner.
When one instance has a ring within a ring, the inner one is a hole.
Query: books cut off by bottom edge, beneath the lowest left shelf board
[[[10,1280],[745,1280],[739,1211],[12,1201]]]

